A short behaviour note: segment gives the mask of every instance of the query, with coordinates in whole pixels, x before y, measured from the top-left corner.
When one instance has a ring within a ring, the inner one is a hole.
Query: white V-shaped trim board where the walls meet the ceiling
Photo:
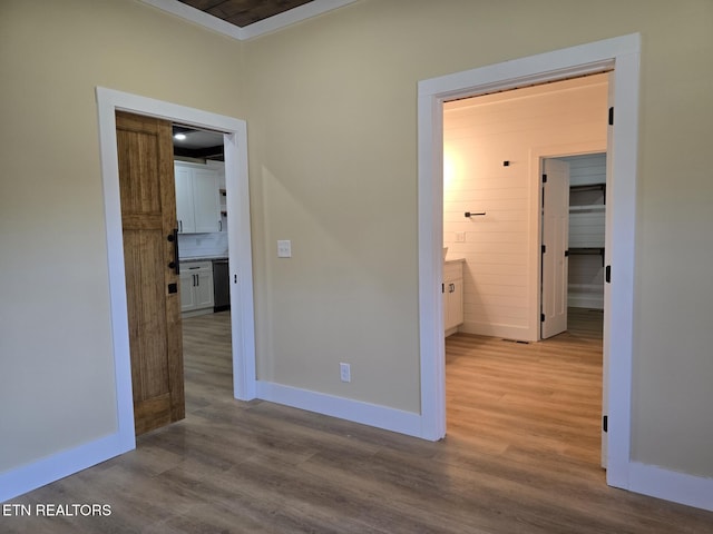
[[[243,28],[231,24],[223,19],[213,17],[205,11],[201,11],[199,9],[193,8],[177,0],[140,1],[160,9],[162,11],[166,11],[168,13],[175,14],[176,17],[188,20],[189,22],[194,22],[209,30],[243,41],[246,39],[252,39],[253,37],[260,37],[271,31],[280,30],[290,24],[301,22],[312,17],[318,17],[333,9],[355,2],[356,0],[314,0],[303,6],[293,8],[289,11],[275,14],[274,17],[270,17],[258,22],[245,26]]]

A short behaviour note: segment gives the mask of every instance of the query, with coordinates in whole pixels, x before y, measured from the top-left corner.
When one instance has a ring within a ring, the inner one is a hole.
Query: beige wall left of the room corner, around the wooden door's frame
[[[240,116],[238,61],[138,2],[0,2],[0,473],[116,431],[95,87]]]

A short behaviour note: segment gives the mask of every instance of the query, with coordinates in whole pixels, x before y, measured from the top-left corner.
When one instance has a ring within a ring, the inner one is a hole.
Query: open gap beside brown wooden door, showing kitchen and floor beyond
[[[186,416],[233,383],[223,134],[173,123]]]

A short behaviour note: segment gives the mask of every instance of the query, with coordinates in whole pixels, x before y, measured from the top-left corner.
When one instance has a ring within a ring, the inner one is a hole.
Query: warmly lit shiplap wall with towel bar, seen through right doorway
[[[449,258],[466,259],[460,332],[538,338],[540,171],[533,155],[605,150],[606,102],[600,75],[443,105],[443,245]]]

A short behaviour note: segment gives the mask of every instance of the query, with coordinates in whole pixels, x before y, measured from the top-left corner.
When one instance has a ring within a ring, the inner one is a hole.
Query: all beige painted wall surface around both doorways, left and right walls
[[[638,31],[633,456],[713,476],[712,20],[363,0],[240,44],[130,0],[3,0],[0,471],[115,425],[95,86],[248,120],[260,378],[418,412],[418,80]]]

